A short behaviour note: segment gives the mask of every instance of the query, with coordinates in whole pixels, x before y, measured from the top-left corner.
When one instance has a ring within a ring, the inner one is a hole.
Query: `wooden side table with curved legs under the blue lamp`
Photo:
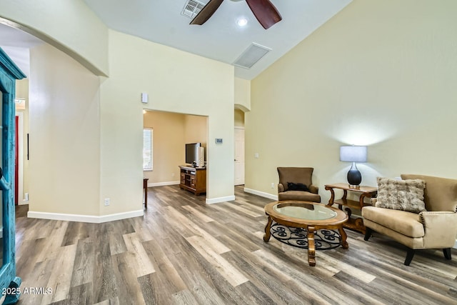
[[[346,211],[348,214],[349,220],[344,224],[348,229],[353,229],[365,234],[365,226],[363,225],[363,219],[361,217],[351,218],[352,210],[358,209],[361,210],[363,206],[369,206],[371,204],[366,204],[363,199],[372,198],[378,194],[378,189],[376,186],[359,186],[354,188],[349,186],[347,183],[338,183],[338,184],[326,184],[326,190],[331,192],[331,197],[328,200],[328,206],[333,204],[338,204],[338,209],[343,210],[343,206],[346,208],[343,211]],[[335,191],[333,189],[342,189],[343,197],[341,199],[335,200]],[[348,191],[353,191],[359,194],[358,201],[347,199]]]

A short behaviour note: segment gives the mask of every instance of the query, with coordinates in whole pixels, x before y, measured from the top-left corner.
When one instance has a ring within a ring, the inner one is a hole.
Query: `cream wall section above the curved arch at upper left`
[[[0,22],[56,46],[94,74],[108,74],[108,28],[84,1],[2,0]]]

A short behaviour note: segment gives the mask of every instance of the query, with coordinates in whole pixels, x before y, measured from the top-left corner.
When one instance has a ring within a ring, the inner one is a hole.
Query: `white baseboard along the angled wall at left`
[[[139,217],[139,216],[143,216],[143,215],[144,215],[143,210],[128,211],[128,212],[124,212],[124,213],[109,214],[109,215],[103,215],[103,216],[44,213],[44,212],[35,212],[35,211],[27,212],[27,217],[29,217],[29,218],[90,222],[93,224],[101,224],[102,222],[115,221],[115,220],[127,219],[127,218],[132,218],[132,217]]]

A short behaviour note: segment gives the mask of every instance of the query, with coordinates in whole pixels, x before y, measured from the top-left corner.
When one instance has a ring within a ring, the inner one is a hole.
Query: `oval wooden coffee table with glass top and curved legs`
[[[314,245],[314,231],[318,229],[338,229],[341,235],[341,246],[348,249],[347,235],[343,224],[348,221],[348,215],[331,206],[316,204],[308,201],[275,201],[265,206],[268,223],[265,226],[263,241],[271,237],[271,223],[276,221],[283,226],[302,228],[308,237],[308,264],[316,266],[316,248]]]

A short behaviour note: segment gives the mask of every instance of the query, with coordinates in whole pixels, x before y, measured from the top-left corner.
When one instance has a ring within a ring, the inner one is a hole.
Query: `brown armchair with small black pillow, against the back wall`
[[[312,184],[313,170],[312,167],[278,167],[278,200],[321,202],[318,187]]]

